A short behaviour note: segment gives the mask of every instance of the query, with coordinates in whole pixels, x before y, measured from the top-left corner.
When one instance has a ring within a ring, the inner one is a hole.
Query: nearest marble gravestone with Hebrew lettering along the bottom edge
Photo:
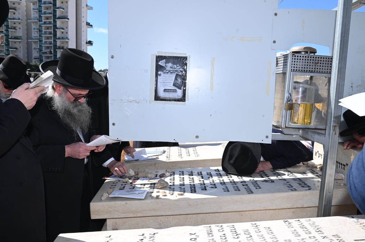
[[[143,221],[141,221],[143,222]],[[228,222],[228,221],[226,221]],[[364,241],[365,215],[220,223],[167,229],[132,229],[58,235],[55,242],[109,241],[313,242]]]

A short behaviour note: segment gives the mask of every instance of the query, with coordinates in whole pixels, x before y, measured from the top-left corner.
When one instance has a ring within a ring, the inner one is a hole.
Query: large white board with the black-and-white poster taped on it
[[[109,0],[110,134],[270,143],[277,7],[277,0]]]

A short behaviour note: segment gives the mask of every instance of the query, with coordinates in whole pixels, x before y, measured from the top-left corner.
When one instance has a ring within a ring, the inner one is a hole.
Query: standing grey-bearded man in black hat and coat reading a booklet
[[[87,146],[99,137],[91,127],[86,96],[105,80],[93,70],[94,60],[79,49],[66,48],[59,60],[39,68],[54,74],[54,83],[31,110],[29,136],[41,160],[47,219],[47,241],[60,233],[93,231],[89,203],[95,195],[91,162],[107,166],[115,175],[127,172],[103,146]],[[90,154],[93,155],[93,159]]]

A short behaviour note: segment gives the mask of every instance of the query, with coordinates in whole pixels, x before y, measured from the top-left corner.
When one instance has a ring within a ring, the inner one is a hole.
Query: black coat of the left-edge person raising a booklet
[[[17,99],[0,101],[0,230],[2,241],[45,241],[46,215],[39,159],[24,131],[30,121]]]

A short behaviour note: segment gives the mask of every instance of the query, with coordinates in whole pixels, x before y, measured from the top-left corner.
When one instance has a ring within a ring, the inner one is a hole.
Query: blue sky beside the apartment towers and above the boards
[[[326,9],[337,7],[338,0],[278,0],[278,8]],[[96,70],[108,68],[108,4],[106,0],[88,0],[93,10],[88,11],[88,40],[94,41],[88,53],[94,58]],[[365,7],[356,11],[365,12]],[[296,45],[303,45],[298,43]],[[313,45],[311,45],[313,46]],[[319,55],[328,55],[328,47],[313,46]]]

